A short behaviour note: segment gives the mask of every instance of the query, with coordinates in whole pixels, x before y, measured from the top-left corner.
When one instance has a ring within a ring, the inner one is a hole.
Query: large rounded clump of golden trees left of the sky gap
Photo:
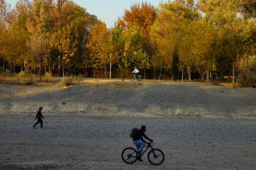
[[[10,10],[1,0],[0,56],[14,72],[39,74],[83,67],[90,29],[100,21],[68,0],[19,0]]]

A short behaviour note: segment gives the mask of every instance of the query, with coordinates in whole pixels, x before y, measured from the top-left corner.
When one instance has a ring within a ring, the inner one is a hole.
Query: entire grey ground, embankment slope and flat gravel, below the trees
[[[32,128],[43,106],[44,128]],[[122,162],[146,125],[160,166]],[[256,169],[256,89],[85,80],[0,84],[0,169]]]

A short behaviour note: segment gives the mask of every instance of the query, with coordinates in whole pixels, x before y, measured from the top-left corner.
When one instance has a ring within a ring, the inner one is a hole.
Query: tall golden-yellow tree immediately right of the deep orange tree
[[[191,42],[185,36],[191,23],[199,18],[200,13],[193,7],[193,1],[168,1],[159,5],[158,16],[152,28],[153,36],[157,40],[158,56],[164,56],[166,67],[171,68],[174,47],[177,45],[180,68],[183,73],[187,67],[189,79],[193,60],[188,60],[191,58]]]

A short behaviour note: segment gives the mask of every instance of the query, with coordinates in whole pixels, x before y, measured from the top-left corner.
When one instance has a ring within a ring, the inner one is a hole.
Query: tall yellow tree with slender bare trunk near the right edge
[[[235,83],[236,64],[244,52],[245,37],[242,33],[248,20],[238,15],[241,1],[198,1],[198,6],[205,13],[206,21],[218,31],[218,36],[226,42],[226,56],[233,64],[233,84]]]

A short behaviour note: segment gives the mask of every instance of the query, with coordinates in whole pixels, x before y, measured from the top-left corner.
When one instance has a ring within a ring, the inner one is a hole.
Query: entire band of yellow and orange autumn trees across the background
[[[68,0],[19,0],[10,9],[0,0],[2,72],[112,67],[167,70],[174,80],[210,81],[228,76],[256,84],[256,3],[254,0],[176,0],[154,8],[133,4],[114,28]],[[61,70],[61,72],[60,72]],[[185,76],[186,75],[186,76]]]

